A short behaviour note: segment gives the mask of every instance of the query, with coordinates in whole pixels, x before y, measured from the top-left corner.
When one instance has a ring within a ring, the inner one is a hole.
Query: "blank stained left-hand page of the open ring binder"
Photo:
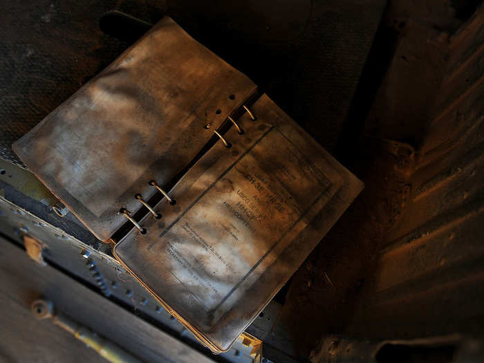
[[[13,148],[106,240],[126,221],[118,211],[172,180],[255,88],[164,18]]]

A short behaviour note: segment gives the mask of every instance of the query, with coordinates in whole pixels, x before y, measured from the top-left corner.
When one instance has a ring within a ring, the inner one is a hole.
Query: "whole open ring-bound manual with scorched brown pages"
[[[362,189],[168,17],[13,149],[215,353]]]

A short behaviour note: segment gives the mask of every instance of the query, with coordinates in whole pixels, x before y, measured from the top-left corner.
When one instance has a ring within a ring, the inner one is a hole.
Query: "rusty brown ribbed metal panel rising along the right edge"
[[[472,331],[481,320],[477,316],[482,313],[478,306],[484,283],[483,41],[481,8],[449,39],[447,71],[428,136],[409,177],[409,203],[379,257],[373,300],[375,308],[382,304],[382,318],[402,301],[420,306],[421,312],[403,329],[421,319],[427,333]],[[409,314],[405,310],[400,314]],[[441,317],[447,313],[454,317],[444,323]]]

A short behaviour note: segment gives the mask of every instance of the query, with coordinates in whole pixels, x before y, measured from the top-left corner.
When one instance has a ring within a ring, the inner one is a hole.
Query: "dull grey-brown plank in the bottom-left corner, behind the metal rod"
[[[0,362],[106,362],[30,303],[43,297],[73,319],[146,362],[212,362],[50,266],[39,266],[0,238]]]

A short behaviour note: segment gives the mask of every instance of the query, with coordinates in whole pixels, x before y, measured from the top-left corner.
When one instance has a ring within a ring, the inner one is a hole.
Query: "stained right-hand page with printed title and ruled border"
[[[268,97],[243,115],[115,256],[214,351],[225,351],[360,192]]]

